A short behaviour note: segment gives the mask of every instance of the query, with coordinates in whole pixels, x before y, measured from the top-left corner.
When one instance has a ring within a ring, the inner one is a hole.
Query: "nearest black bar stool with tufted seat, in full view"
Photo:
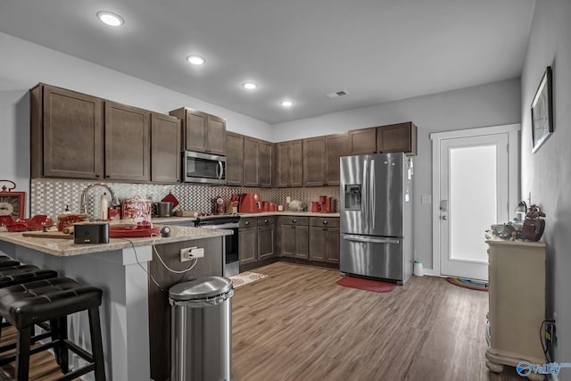
[[[18,330],[16,353],[0,357],[0,365],[16,360],[15,379],[27,380],[29,377],[29,356],[54,348],[56,360],[64,374],[59,380],[72,380],[95,372],[95,380],[105,380],[103,343],[99,321],[99,306],[103,290],[93,286],[81,286],[69,277],[56,277],[23,283],[21,285],[0,288],[0,316],[8,320]],[[87,311],[92,352],[87,352],[77,344],[71,343],[67,335],[67,316]],[[32,327],[50,320],[52,341],[30,348]],[[0,347],[0,352],[10,348]],[[88,364],[70,371],[68,350],[75,352]]]

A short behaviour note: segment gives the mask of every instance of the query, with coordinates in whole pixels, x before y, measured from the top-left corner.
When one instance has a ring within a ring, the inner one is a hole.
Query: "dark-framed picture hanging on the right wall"
[[[532,152],[535,153],[553,133],[551,67],[548,66],[532,102]]]

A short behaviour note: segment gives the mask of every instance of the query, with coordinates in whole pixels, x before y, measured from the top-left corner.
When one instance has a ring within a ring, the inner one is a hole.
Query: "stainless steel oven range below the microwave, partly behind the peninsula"
[[[231,236],[224,236],[226,258],[224,259],[224,277],[231,277],[240,272],[238,259],[238,223],[240,217],[236,215],[210,216],[196,219],[198,228],[223,228],[234,232]]]

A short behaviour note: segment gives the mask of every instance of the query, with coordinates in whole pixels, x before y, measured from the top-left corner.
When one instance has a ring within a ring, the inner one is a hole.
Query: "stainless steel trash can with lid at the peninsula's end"
[[[171,380],[232,380],[232,295],[228,277],[170,287]]]

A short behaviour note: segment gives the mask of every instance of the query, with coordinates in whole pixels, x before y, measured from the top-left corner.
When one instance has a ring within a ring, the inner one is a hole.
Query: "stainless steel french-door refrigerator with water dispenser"
[[[401,285],[409,280],[412,160],[404,153],[342,157],[340,199],[341,272]]]

